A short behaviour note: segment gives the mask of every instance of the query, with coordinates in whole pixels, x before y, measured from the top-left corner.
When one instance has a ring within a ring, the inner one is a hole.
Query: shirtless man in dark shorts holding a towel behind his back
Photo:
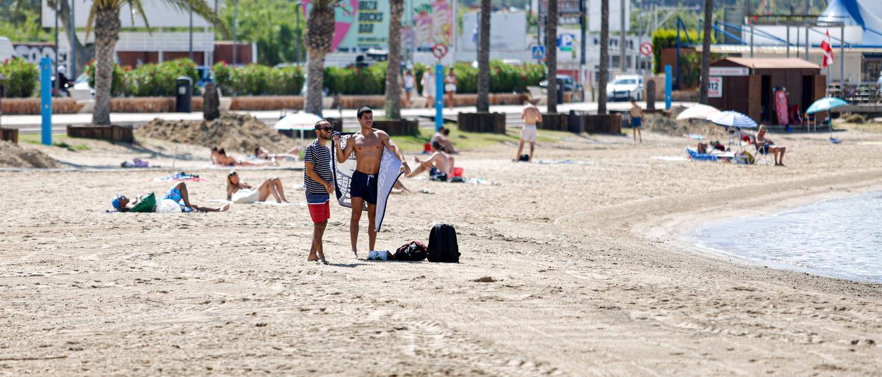
[[[368,235],[370,237],[370,251],[374,250],[377,241],[376,218],[377,218],[377,173],[380,171],[380,159],[383,158],[383,148],[395,153],[401,161],[401,170],[404,174],[410,174],[410,167],[398,146],[392,142],[389,134],[381,129],[373,129],[374,115],[370,107],[362,107],[356,113],[362,129],[349,137],[346,149],[340,147],[340,136],[333,137],[334,149],[337,152],[337,161],[341,164],[355,151],[355,174],[352,174],[352,218],[349,220],[349,240],[352,241],[352,254],[358,258],[358,221],[362,219],[362,207],[368,202]]]

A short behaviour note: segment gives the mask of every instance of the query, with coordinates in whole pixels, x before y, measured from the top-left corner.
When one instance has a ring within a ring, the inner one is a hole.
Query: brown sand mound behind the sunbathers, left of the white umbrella
[[[250,115],[225,114],[212,122],[154,119],[138,129],[138,135],[174,143],[216,146],[228,152],[251,153],[261,146],[283,151],[294,142]]]

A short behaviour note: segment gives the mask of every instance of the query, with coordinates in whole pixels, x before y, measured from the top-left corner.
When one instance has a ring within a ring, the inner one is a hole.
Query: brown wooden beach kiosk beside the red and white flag
[[[824,97],[820,66],[796,58],[726,57],[711,63],[708,105],[749,115],[764,124],[792,124]]]

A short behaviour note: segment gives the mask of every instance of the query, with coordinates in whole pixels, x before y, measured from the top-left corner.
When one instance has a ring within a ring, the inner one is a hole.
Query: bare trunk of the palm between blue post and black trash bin
[[[113,51],[119,39],[119,10],[95,11],[95,107],[93,125],[110,124],[110,89],[113,85]]]

